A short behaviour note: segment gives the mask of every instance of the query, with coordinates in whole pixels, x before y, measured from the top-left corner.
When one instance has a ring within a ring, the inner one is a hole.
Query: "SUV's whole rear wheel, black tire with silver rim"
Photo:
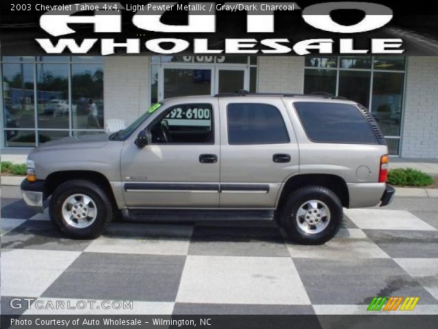
[[[333,191],[322,186],[307,186],[287,197],[280,220],[292,240],[319,245],[335,236],[342,217],[342,204]]]

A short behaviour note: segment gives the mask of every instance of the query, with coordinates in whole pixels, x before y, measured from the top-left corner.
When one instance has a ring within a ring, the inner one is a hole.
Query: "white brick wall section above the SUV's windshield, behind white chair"
[[[104,61],[103,95],[107,119],[129,125],[150,106],[149,56],[112,56]]]

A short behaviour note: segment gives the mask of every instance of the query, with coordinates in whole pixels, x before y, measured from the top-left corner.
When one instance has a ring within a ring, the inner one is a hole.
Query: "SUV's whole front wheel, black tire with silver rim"
[[[50,218],[73,239],[94,239],[113,217],[106,193],[92,182],[70,180],[58,186],[49,204]]]

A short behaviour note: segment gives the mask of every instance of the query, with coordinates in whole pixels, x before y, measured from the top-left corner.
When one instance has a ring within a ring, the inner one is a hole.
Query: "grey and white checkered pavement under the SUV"
[[[303,246],[274,223],[111,223],[74,241],[47,210],[18,209],[9,200],[0,222],[3,314],[365,314],[376,295],[418,296],[411,314],[438,313],[438,219],[407,210],[346,210],[332,241]],[[14,310],[12,297],[133,308]]]

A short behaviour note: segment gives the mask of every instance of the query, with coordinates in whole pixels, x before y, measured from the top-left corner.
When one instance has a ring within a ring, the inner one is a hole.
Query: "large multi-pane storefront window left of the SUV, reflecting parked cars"
[[[103,131],[102,57],[3,56],[1,71],[6,147]]]

